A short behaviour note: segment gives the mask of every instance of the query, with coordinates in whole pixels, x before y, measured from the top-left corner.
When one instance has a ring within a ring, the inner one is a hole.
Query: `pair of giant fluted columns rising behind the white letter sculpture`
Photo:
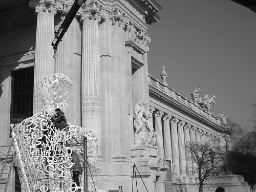
[[[42,104],[38,87],[47,75],[54,70],[53,48],[54,16],[57,11],[63,12],[61,3],[54,0],[29,2],[37,14],[36,46],[34,63],[34,110],[37,113]],[[101,148],[101,96],[100,96],[100,55],[99,55],[99,22],[105,18],[105,12],[95,3],[83,6],[77,13],[82,22],[82,127],[94,131],[98,138],[99,154]]]

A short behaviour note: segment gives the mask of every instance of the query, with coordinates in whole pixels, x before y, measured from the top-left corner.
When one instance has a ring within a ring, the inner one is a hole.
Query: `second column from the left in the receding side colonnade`
[[[170,119],[169,114],[163,118],[163,138],[164,138],[164,158],[166,161],[172,161],[172,141],[170,140]]]

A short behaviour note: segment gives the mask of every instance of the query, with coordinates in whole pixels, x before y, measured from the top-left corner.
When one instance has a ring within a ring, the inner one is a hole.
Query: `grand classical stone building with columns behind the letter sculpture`
[[[192,162],[184,144],[219,139],[221,124],[210,106],[206,108],[211,102],[202,108],[195,100],[198,90],[190,101],[168,87],[164,68],[162,82],[148,74],[147,28],[160,19],[160,5],[155,0],[88,0],[54,58],[54,31],[72,4],[72,0],[0,2],[0,144],[10,143],[11,123],[42,109],[37,91],[41,80],[63,73],[74,82],[68,121],[98,136],[102,172],[98,188],[132,190],[135,164],[148,191],[171,191],[173,163],[179,182],[197,191],[197,176],[189,168]],[[7,191],[18,190],[15,177],[12,173]],[[146,191],[139,179],[140,191]]]

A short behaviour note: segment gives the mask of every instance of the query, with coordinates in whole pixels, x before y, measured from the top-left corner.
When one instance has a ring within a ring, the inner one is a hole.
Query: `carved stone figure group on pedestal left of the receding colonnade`
[[[156,145],[157,134],[154,131],[150,111],[146,111],[148,103],[139,101],[134,110],[135,143]]]

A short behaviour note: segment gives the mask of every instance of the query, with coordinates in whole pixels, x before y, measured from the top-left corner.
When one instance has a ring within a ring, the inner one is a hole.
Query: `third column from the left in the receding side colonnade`
[[[178,133],[177,133],[177,123],[178,118],[173,118],[170,124],[170,136],[172,140],[172,156],[173,165],[175,166],[177,174],[180,174],[180,158],[179,158],[179,147],[178,147]]]

